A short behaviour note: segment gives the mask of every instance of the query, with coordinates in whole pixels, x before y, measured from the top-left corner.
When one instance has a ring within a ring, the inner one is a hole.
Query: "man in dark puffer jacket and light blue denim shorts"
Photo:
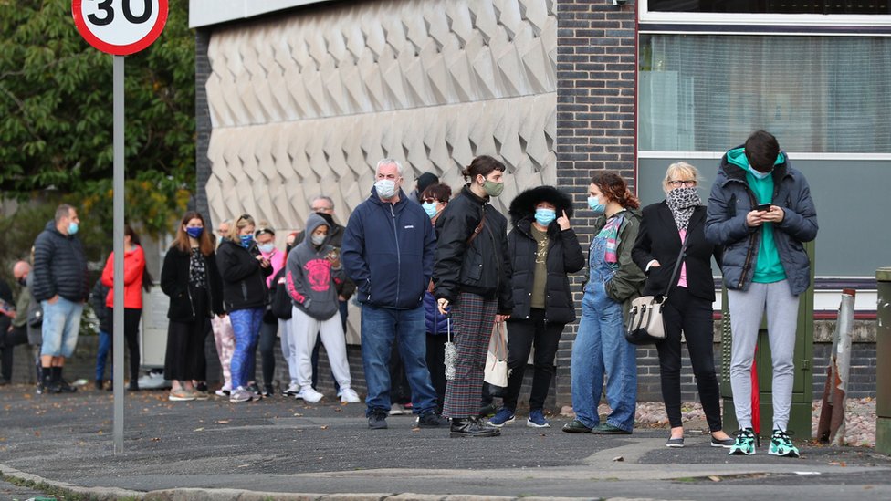
[[[87,257],[75,236],[79,224],[78,211],[61,204],[34,241],[33,293],[43,307],[43,393],[77,390],[62,379],[62,367],[78,345],[80,314],[89,297]]]

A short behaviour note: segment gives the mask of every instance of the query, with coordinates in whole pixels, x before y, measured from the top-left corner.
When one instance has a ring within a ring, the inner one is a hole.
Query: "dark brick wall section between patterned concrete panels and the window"
[[[616,6],[612,0],[557,3],[557,184],[571,193],[575,207],[586,206],[594,170],[621,171],[634,181],[634,12],[634,3]],[[592,215],[579,210],[573,221],[585,248]],[[571,287],[581,311],[581,274],[572,277]],[[557,353],[560,405],[572,402],[569,366],[577,327],[566,326]]]

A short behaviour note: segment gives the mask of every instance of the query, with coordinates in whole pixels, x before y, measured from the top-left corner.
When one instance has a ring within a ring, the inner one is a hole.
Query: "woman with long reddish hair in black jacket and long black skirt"
[[[164,378],[173,402],[194,400],[192,381],[204,381],[204,335],[210,318],[223,313],[219,277],[204,217],[185,213],[161,269],[161,289],[170,297]]]

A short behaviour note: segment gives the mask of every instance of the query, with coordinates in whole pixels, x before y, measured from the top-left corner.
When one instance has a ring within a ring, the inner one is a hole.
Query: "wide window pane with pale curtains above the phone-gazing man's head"
[[[726,151],[763,129],[786,151],[891,153],[891,37],[641,33],[639,47],[639,151]]]

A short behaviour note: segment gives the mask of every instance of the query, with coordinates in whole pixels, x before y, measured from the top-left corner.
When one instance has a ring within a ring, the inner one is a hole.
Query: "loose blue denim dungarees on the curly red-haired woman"
[[[634,429],[637,365],[634,345],[624,338],[622,305],[606,296],[603,282],[592,279],[582,297],[582,320],[572,346],[572,408],[589,428],[600,424],[597,405],[606,373],[606,400],[613,412],[606,423]]]

